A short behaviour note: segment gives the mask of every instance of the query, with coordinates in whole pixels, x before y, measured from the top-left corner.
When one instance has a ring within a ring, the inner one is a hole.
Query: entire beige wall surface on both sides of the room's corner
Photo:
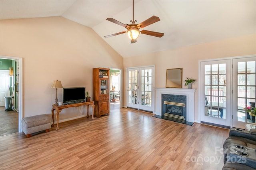
[[[186,77],[198,79],[199,60],[251,54],[256,54],[256,35],[123,59],[91,28],[62,17],[0,21],[0,55],[23,58],[24,117],[50,113],[55,98],[55,89],[50,85],[56,79],[64,87],[85,86],[92,96],[94,67],[123,69],[126,92],[128,67],[155,65],[155,87],[165,87],[166,69],[182,67],[183,81]],[[183,88],[187,88],[184,83]],[[198,82],[192,88],[198,89]],[[58,89],[58,98],[62,101],[62,89]],[[123,99],[126,106],[126,93]],[[195,100],[198,101],[198,91]],[[69,108],[62,111],[60,120],[85,113],[86,109]]]

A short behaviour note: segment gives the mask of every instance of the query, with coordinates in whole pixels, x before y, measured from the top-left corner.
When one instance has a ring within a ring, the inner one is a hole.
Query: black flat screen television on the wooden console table
[[[63,103],[84,102],[85,94],[85,87],[63,88]]]

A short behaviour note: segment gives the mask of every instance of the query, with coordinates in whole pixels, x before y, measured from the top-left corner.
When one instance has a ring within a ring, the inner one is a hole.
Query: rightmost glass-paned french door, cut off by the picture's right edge
[[[256,57],[233,59],[233,127],[255,125],[255,117],[245,111],[255,107]]]

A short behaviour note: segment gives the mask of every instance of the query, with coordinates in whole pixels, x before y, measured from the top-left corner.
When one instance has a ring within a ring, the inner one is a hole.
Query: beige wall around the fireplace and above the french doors
[[[186,77],[198,80],[198,61],[204,59],[216,59],[256,54],[256,35],[248,35],[217,42],[191,45],[173,50],[124,58],[124,85],[126,85],[126,68],[146,65],[155,65],[155,87],[165,87],[166,69],[183,68],[183,84]],[[198,81],[192,85],[198,89]],[[124,87],[124,91],[126,88]],[[198,103],[198,90],[195,93],[195,101]],[[126,104],[126,93],[124,93]],[[195,117],[198,121],[198,104],[195,104]]]

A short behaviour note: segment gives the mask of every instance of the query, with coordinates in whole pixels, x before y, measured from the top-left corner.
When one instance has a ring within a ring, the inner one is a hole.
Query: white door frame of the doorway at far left
[[[18,97],[18,130],[21,133],[22,132],[22,127],[21,127],[21,121],[23,118],[23,63],[22,57],[12,57],[12,56],[5,56],[5,55],[0,55],[0,58],[3,59],[13,59],[13,60],[18,60],[19,61],[19,97]]]

